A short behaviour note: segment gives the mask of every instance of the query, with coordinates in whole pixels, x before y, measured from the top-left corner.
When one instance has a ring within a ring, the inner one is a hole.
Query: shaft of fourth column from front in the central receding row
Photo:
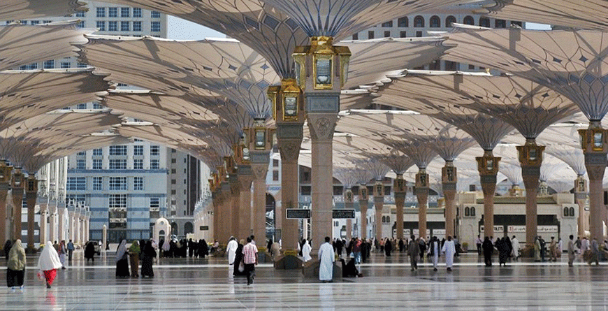
[[[238,203],[238,227],[235,237],[247,240],[252,234],[252,212],[251,212],[251,186],[253,182],[252,168],[250,165],[238,166],[238,185],[239,185],[239,203]]]

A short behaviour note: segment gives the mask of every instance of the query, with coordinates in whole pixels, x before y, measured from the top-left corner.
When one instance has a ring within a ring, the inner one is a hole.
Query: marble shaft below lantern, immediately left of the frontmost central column
[[[298,249],[298,219],[287,219],[287,209],[299,208],[300,146],[303,139],[303,123],[277,122],[277,145],[281,153],[281,236],[283,249],[294,252]],[[286,253],[287,254],[287,253]]]

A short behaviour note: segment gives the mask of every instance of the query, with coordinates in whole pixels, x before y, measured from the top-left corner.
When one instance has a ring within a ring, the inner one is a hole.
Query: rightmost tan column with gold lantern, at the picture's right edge
[[[579,134],[589,177],[589,234],[599,242],[604,237],[602,179],[608,164],[608,130],[602,129],[599,121],[592,121],[588,129],[579,129]]]

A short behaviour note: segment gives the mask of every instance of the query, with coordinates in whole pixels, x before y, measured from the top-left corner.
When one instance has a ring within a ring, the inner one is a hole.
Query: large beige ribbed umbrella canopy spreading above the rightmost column
[[[485,29],[458,25],[444,58],[512,73],[560,92],[590,121],[608,112],[608,32]]]

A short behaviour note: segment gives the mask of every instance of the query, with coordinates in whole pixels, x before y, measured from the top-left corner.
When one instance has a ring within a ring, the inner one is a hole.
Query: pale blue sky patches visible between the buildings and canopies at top
[[[549,30],[546,24],[526,23],[526,29]],[[178,17],[168,16],[167,37],[175,40],[203,40],[204,38],[226,38],[225,34],[203,27],[194,22],[188,22]]]

